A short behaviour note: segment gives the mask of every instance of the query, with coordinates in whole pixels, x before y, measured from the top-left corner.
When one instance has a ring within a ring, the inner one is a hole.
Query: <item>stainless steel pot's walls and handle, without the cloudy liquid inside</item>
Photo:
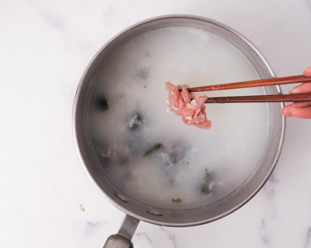
[[[118,47],[135,36],[152,29],[168,26],[188,26],[207,30],[221,36],[238,49],[253,66],[259,78],[276,77],[263,55],[247,38],[234,29],[217,21],[193,15],[165,15],[144,20],[118,33],[109,40],[87,66],[77,88],[73,106],[74,140],[82,166],[95,187],[116,207],[126,213],[118,234],[110,236],[104,247],[133,247],[132,236],[139,220],[153,224],[186,227],[205,224],[234,212],[248,202],[266,183],[281,153],[285,132],[285,118],[280,109],[283,103],[270,103],[267,145],[254,174],[225,199],[213,204],[187,209],[166,210],[148,206],[130,195],[122,193],[99,171],[91,150],[91,140],[87,130],[87,105],[92,90],[92,79],[100,64]],[[281,94],[279,86],[265,87],[266,94]]]

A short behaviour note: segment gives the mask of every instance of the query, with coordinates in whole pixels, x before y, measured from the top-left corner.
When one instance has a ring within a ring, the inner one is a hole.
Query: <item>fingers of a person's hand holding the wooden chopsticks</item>
[[[311,77],[311,66],[304,70],[304,75]],[[292,88],[289,93],[311,93],[311,83],[302,83]],[[311,119],[311,102],[292,103],[282,108],[281,112],[285,117],[294,116],[302,119]]]

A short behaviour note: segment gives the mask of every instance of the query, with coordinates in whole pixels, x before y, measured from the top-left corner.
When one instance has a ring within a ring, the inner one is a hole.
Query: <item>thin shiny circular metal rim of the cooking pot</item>
[[[202,220],[202,221],[198,221],[198,222],[193,222],[193,223],[178,223],[178,224],[174,224],[174,223],[164,223],[164,222],[160,222],[160,221],[155,221],[152,219],[148,219],[142,216],[139,216],[131,211],[128,211],[127,209],[123,208],[122,206],[120,206],[117,202],[115,202],[114,200],[112,200],[110,197],[108,197],[104,191],[99,187],[99,185],[96,183],[95,179],[91,176],[91,174],[89,173],[87,166],[83,160],[82,154],[81,154],[81,150],[78,144],[78,138],[77,138],[77,129],[76,129],[76,115],[77,115],[77,104],[78,104],[78,99],[79,99],[79,95],[81,93],[81,86],[83,85],[85,78],[86,78],[86,74],[88,73],[91,65],[95,62],[95,60],[97,60],[98,56],[100,55],[100,53],[109,46],[110,43],[114,42],[116,39],[118,39],[122,34],[128,32],[131,29],[134,29],[142,24],[146,24],[149,22],[153,22],[156,20],[165,20],[165,19],[177,19],[177,18],[182,18],[182,19],[192,19],[192,20],[200,20],[200,21],[204,21],[207,23],[211,23],[217,26],[220,26],[223,29],[226,29],[228,31],[230,31],[233,35],[237,36],[238,38],[242,39],[244,42],[246,42],[252,49],[254,52],[256,52],[256,54],[258,55],[258,57],[263,61],[263,63],[265,64],[265,66],[267,67],[267,69],[269,70],[271,76],[274,78],[276,77],[276,74],[274,73],[271,65],[269,64],[269,62],[267,61],[267,59],[262,55],[262,53],[259,51],[259,49],[250,41],[248,40],[246,37],[244,37],[244,35],[242,35],[241,33],[239,33],[238,31],[236,31],[235,29],[229,27],[228,25],[225,25],[223,23],[220,23],[216,20],[213,19],[209,19],[206,17],[202,17],[202,16],[197,16],[197,15],[185,15],[185,14],[172,14],[172,15],[160,15],[160,16],[156,16],[156,17],[152,17],[146,20],[142,20],[140,22],[137,22],[136,24],[133,24],[131,26],[129,26],[126,29],[123,29],[121,32],[117,33],[114,37],[112,37],[109,41],[107,41],[101,48],[100,50],[94,55],[94,57],[91,59],[90,63],[87,65],[84,73],[82,74],[82,77],[80,79],[80,82],[77,86],[77,91],[76,91],[76,95],[75,95],[75,99],[74,99],[74,103],[73,103],[73,110],[72,110],[72,129],[73,129],[73,138],[74,138],[74,143],[75,143],[75,147],[77,150],[77,154],[79,157],[79,160],[82,164],[83,169],[86,172],[86,175],[89,177],[89,179],[91,180],[91,182],[94,184],[94,186],[97,188],[97,190],[100,191],[100,193],[102,193],[102,195],[104,195],[104,197],[106,197],[106,199],[111,202],[114,206],[116,206],[118,209],[122,210],[124,213],[131,215],[137,219],[140,219],[142,221],[151,223],[151,224],[157,224],[157,225],[161,225],[161,226],[170,226],[170,227],[188,227],[188,226],[196,226],[196,225],[201,225],[201,224],[206,224],[212,221],[215,221],[217,219],[221,219],[231,213],[233,213],[234,211],[238,210],[240,207],[244,206],[244,204],[246,204],[249,200],[251,200],[258,192],[259,190],[263,187],[263,185],[267,182],[267,180],[269,179],[270,175],[272,174],[276,163],[280,157],[281,154],[281,150],[282,150],[282,146],[284,143],[284,134],[285,134],[285,117],[282,116],[282,131],[281,131],[281,137],[280,137],[280,144],[279,147],[277,148],[277,153],[276,153],[276,157],[273,161],[273,164],[270,168],[270,170],[268,171],[267,175],[265,176],[265,178],[262,180],[262,182],[258,185],[258,187],[253,191],[253,193],[251,193],[244,201],[240,202],[238,205],[236,205],[235,207],[233,207],[232,209],[214,217],[211,219],[206,219],[206,220]],[[282,94],[281,92],[281,87],[280,86],[276,86],[277,91],[279,94]],[[284,107],[284,103],[281,103],[281,106]]]

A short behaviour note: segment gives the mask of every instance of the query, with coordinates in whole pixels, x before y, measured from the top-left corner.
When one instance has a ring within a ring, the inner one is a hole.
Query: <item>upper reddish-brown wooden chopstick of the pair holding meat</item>
[[[188,88],[189,92],[201,92],[201,91],[219,91],[219,90],[231,90],[240,88],[250,88],[259,86],[281,85],[290,83],[308,83],[311,82],[311,77],[304,75],[282,77],[282,78],[267,78],[252,81],[236,82],[236,83],[224,83],[216,85],[208,85],[201,87]],[[181,91],[181,90],[179,90]]]

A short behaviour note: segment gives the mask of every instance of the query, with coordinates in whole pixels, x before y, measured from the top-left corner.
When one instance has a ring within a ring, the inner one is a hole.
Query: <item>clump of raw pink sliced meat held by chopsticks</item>
[[[187,91],[188,85],[175,86],[171,82],[165,82],[165,88],[169,91],[169,97],[166,100],[169,111],[180,115],[186,125],[194,125],[201,129],[211,128],[211,121],[207,120],[205,113],[204,103],[207,96],[195,97]],[[179,89],[182,91],[179,92]],[[192,101],[191,98],[193,98]]]

